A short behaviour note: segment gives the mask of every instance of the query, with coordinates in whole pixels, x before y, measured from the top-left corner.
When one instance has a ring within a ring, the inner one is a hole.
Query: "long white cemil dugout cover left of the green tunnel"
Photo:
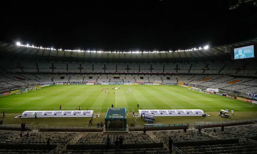
[[[81,111],[25,111],[21,114],[21,118],[77,118],[77,117],[92,117],[93,110],[81,110]]]

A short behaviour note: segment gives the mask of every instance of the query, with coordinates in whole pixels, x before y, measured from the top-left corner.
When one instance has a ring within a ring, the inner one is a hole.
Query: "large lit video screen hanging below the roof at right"
[[[234,49],[234,59],[254,58],[254,45]]]

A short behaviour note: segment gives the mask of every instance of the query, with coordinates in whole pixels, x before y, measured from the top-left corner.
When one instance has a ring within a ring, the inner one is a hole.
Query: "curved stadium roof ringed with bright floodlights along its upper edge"
[[[8,44],[0,42],[0,53],[24,56],[40,57],[72,57],[78,59],[179,59],[229,56],[234,48],[244,47],[257,43],[257,38],[234,44],[226,44],[218,47],[192,48],[177,51],[83,51],[62,50],[54,48],[35,47],[33,45]]]

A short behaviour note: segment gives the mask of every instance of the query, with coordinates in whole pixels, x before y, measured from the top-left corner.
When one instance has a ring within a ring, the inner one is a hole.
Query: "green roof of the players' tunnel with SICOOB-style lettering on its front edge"
[[[107,121],[117,121],[117,120],[126,120],[127,119],[127,113],[126,108],[108,108],[105,120]]]

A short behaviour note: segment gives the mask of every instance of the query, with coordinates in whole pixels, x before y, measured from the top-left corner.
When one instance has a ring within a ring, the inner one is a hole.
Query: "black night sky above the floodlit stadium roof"
[[[257,36],[257,7],[236,0],[1,2],[0,41],[62,49],[177,50]]]

